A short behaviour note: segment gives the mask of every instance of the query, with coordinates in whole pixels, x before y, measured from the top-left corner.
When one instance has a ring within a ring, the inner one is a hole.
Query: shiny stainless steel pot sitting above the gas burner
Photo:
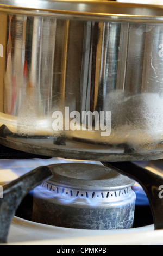
[[[0,143],[73,159],[163,156],[162,7],[0,3]]]

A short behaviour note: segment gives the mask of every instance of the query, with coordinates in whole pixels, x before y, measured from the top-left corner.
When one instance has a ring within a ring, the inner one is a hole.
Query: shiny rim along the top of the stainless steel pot
[[[8,2],[9,4],[7,4]],[[35,5],[36,3],[37,5]],[[161,5],[120,3],[105,0],[37,0],[30,2],[30,7],[28,2],[22,4],[21,0],[0,0],[0,12],[71,20],[134,23],[163,22],[163,6]]]

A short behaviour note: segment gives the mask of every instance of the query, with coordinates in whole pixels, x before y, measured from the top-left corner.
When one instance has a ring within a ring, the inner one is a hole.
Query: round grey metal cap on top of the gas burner
[[[60,186],[110,191],[131,187],[135,183],[102,164],[63,163],[52,166],[52,170],[51,182]]]

